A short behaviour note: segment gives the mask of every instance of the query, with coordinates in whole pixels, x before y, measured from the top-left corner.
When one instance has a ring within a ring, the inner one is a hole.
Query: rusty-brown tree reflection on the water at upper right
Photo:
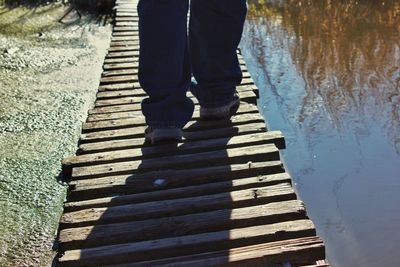
[[[288,34],[267,29],[287,43],[304,78],[300,122],[312,121],[313,111],[323,108],[340,129],[346,120],[355,122],[347,115],[368,114],[387,129],[400,154],[399,1],[250,1],[249,24],[258,17],[280,23],[294,37],[285,40]]]

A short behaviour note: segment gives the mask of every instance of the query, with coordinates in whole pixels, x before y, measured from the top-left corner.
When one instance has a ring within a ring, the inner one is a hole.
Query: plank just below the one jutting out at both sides
[[[263,144],[246,148],[228,148],[196,154],[175,155],[130,162],[101,164],[90,167],[77,167],[72,170],[73,179],[87,179],[109,175],[134,174],[149,170],[157,170],[168,166],[172,169],[186,169],[189,166],[199,167],[201,164],[215,166],[222,164],[256,162],[260,160],[279,160],[279,150],[274,144]]]

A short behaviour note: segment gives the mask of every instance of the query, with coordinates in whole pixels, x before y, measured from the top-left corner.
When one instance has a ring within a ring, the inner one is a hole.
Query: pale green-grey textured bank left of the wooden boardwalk
[[[48,266],[73,155],[111,29],[65,8],[0,8],[0,266]]]

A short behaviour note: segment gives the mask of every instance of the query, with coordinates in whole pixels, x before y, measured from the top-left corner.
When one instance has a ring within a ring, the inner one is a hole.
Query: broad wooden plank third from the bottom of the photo
[[[305,219],[301,201],[290,200],[127,223],[67,228],[60,232],[61,250],[97,247],[221,231]]]

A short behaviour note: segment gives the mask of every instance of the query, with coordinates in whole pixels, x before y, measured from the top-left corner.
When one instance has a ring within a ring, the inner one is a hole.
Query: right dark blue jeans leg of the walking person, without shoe
[[[202,107],[218,108],[235,101],[242,80],[236,50],[246,18],[246,0],[192,0],[189,45],[191,91]]]

